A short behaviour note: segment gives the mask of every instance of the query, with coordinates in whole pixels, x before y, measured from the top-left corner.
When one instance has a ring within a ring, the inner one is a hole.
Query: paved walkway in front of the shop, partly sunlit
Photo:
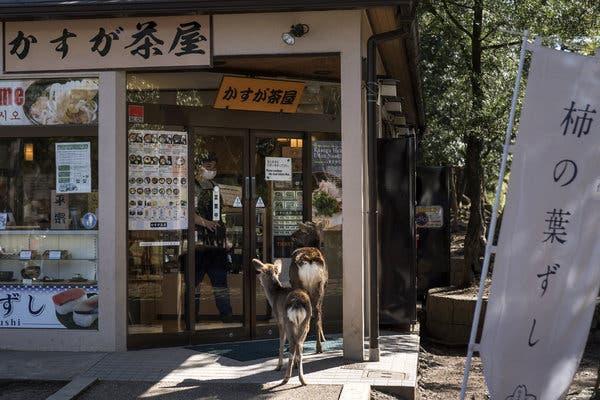
[[[353,384],[343,391],[340,398],[345,399],[363,398],[361,385],[370,385],[387,387],[412,400],[419,337],[385,335],[380,348],[379,362],[346,362],[341,351],[305,355],[306,380],[309,384]],[[269,385],[282,379],[283,371],[274,370],[276,364],[276,358],[241,362],[183,347],[120,353],[0,351],[0,379],[71,380],[77,376],[101,381]],[[294,373],[290,383],[298,384]]]

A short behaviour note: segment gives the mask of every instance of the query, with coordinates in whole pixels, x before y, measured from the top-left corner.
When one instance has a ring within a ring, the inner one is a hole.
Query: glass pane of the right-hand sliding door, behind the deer
[[[253,135],[253,255],[263,261],[282,259],[281,282],[289,283],[294,250],[291,235],[303,221],[303,140],[299,134]],[[271,309],[260,284],[255,285],[257,336],[272,335]]]

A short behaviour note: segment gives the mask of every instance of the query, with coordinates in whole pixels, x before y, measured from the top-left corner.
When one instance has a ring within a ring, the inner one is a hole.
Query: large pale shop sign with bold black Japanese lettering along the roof
[[[208,15],[4,23],[4,71],[210,66]]]

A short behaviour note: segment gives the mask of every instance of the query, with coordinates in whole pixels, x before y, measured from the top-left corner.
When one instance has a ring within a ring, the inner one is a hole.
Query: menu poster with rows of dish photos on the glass
[[[187,140],[187,132],[129,131],[129,230],[187,229]]]

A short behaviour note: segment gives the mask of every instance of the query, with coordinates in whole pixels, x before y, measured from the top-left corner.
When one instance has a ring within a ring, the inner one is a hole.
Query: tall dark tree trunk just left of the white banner
[[[481,32],[483,24],[483,0],[473,2],[473,28],[471,37],[471,91],[472,114],[475,123],[481,123],[483,108],[483,88],[481,85]],[[471,200],[469,210],[469,224],[465,237],[465,276],[462,286],[469,286],[474,278],[475,268],[479,264],[479,257],[485,244],[485,229],[483,226],[483,169],[481,154],[483,139],[481,131],[474,129],[466,137],[465,180],[467,182],[467,196]]]

